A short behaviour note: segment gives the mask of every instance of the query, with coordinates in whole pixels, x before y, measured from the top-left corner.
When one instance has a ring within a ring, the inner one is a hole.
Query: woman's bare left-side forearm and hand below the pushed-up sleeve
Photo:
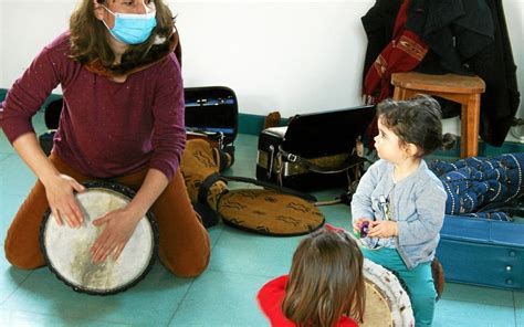
[[[84,187],[70,176],[62,175],[51,164],[34,133],[19,136],[13,147],[22,160],[36,175],[45,188],[51,212],[59,224],[65,220],[72,228],[78,228],[83,222],[82,211],[76,203],[73,191],[82,192]]]

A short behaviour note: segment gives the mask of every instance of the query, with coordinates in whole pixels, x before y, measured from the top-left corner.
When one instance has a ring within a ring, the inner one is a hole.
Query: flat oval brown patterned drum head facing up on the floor
[[[272,190],[229,191],[220,197],[218,212],[228,225],[270,235],[307,234],[324,224],[313,203]]]

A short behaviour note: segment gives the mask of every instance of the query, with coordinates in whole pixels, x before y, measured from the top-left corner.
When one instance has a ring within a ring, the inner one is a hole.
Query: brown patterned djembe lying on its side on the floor
[[[228,180],[258,181],[221,176],[221,160],[227,157],[211,144],[191,139],[187,141],[180,168],[191,202],[206,204],[226,224],[271,235],[306,234],[324,224],[324,215],[314,203],[292,190],[229,190]]]

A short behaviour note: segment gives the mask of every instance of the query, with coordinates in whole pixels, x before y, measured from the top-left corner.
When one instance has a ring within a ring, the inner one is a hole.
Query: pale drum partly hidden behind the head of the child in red
[[[364,276],[366,309],[359,326],[415,326],[409,296],[390,271],[364,259]]]

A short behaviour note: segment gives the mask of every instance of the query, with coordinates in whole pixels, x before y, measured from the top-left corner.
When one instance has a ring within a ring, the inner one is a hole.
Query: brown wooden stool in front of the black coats
[[[429,75],[415,72],[391,75],[394,99],[409,99],[416,94],[440,96],[462,105],[460,127],[460,156],[476,156],[479,150],[479,122],[481,94],[485,83],[479,76],[455,74]]]

